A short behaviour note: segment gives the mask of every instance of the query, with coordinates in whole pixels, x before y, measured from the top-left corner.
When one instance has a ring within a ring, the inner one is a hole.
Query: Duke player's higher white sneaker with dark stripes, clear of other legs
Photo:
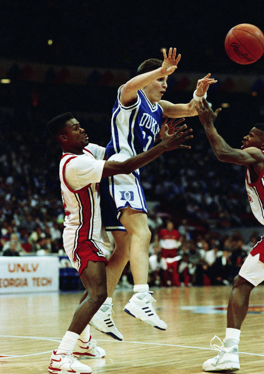
[[[153,292],[137,292],[128,301],[124,307],[124,311],[133,317],[141,319],[141,321],[154,326],[160,330],[166,330],[167,325],[162,321],[155,312],[152,303],[156,302],[152,297]]]

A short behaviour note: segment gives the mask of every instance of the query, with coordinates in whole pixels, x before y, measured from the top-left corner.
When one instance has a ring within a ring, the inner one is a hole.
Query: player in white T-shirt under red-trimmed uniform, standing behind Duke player
[[[190,148],[182,145],[182,142],[192,138],[189,135],[192,129],[182,132],[186,129],[186,125],[183,125],[175,134],[168,135],[166,131],[157,147],[124,162],[105,161],[105,149],[95,144],[88,145],[88,136],[71,113],[52,119],[48,129],[63,149],[60,163],[66,214],[63,244],[86,289],[68,331],[51,355],[48,371],[90,374],[91,368],[81,364],[77,358],[104,357],[105,352],[96,347],[95,341],[91,339],[88,323],[103,331],[100,320],[104,319],[107,329],[103,332],[119,340],[123,338],[113,324],[112,299],[107,297],[107,292],[112,294],[127,262],[126,256],[115,255],[115,249],[109,266],[105,267],[108,261],[104,249],[108,239],[101,226],[99,182],[102,177],[130,174],[164,151]],[[109,274],[110,283],[106,279]],[[94,323],[91,323],[94,318]]]

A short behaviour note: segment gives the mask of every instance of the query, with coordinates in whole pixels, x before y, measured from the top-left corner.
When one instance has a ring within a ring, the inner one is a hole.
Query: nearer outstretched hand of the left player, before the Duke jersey
[[[182,143],[190,140],[193,138],[191,134],[192,129],[188,129],[184,132],[184,130],[187,128],[186,125],[180,126],[179,129],[173,134],[168,134],[168,125],[165,125],[165,131],[163,134],[162,142],[160,144],[163,144],[163,146],[166,148],[166,151],[173,150],[175,148],[184,148],[184,149],[190,149],[190,145],[183,145]]]

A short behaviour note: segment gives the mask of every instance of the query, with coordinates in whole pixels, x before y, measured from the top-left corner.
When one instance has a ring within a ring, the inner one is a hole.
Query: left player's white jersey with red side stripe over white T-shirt
[[[61,157],[60,181],[65,210],[63,244],[68,256],[75,261],[76,249],[85,240],[91,241],[98,253],[102,251],[101,255],[110,248],[100,211],[99,182],[104,153],[105,148],[89,144],[84,154],[63,153]]]

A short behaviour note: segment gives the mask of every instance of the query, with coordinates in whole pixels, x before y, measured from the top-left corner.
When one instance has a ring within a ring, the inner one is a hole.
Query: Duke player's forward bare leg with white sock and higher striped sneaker
[[[130,268],[134,280],[134,295],[124,311],[148,324],[165,330],[167,325],[155,312],[152,303],[156,301],[149,292],[149,242],[151,232],[146,213],[131,208],[121,209],[120,221],[130,236]],[[119,243],[121,245],[121,243]]]

